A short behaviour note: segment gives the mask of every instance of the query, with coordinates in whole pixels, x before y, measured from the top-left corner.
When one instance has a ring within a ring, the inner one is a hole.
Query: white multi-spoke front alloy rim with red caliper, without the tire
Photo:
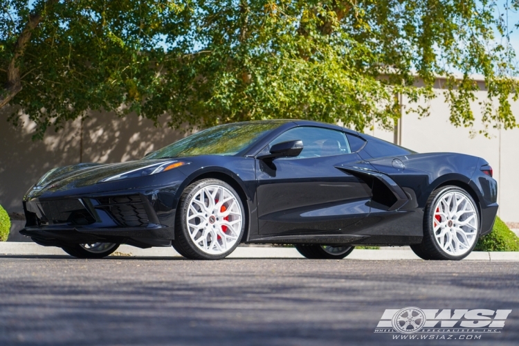
[[[185,226],[203,253],[221,255],[239,241],[244,212],[238,198],[224,186],[206,185],[188,201]]]

